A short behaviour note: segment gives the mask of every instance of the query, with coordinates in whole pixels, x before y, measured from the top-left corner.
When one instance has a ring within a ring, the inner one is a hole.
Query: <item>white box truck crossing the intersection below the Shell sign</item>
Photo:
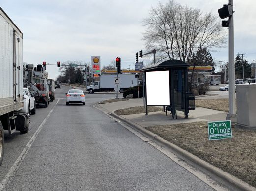
[[[115,78],[116,75],[101,75],[100,81],[93,82],[93,85],[87,86],[86,90],[91,94],[97,91],[112,91],[116,88],[116,85],[114,85]],[[120,85],[118,85],[120,93],[123,93],[124,90],[132,87],[133,85],[137,85],[137,78],[135,78],[135,75],[121,74],[118,75],[118,78],[120,78]]]

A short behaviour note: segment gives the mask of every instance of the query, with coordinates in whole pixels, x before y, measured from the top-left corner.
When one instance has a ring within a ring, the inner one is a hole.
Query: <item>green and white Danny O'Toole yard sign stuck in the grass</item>
[[[231,120],[208,122],[209,140],[232,138]]]

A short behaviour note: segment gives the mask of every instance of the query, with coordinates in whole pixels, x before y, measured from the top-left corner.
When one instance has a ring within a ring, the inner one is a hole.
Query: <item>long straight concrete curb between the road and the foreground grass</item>
[[[169,141],[163,139],[162,137],[159,137],[158,135],[146,130],[145,128],[138,125],[137,123],[134,123],[134,122],[132,122],[128,119],[125,119],[125,118],[123,118],[119,115],[116,115],[114,112],[111,112],[111,115],[114,116],[117,119],[120,119],[120,120],[124,121],[125,123],[128,123],[129,125],[131,125],[135,129],[141,131],[143,134],[151,137],[152,139],[158,141],[159,143],[162,143],[165,146],[171,148],[172,150],[174,150],[178,154],[182,155],[183,157],[187,158],[188,160],[192,161],[193,163],[199,165],[200,167],[208,170],[209,172],[213,173],[217,177],[220,177],[221,179],[230,183],[231,185],[233,185],[237,189],[239,189],[241,191],[256,191],[256,188],[252,187],[248,183],[240,180],[239,178],[236,178],[235,176],[229,174],[228,172],[224,172],[223,170],[219,169],[218,167],[215,167],[215,166],[207,163],[206,161],[204,161],[204,160],[200,159],[199,157],[189,153],[188,151],[178,147],[177,145],[175,145],[173,143],[170,143]]]

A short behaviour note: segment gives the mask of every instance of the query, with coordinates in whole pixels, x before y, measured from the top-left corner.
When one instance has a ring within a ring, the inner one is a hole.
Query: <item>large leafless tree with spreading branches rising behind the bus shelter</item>
[[[159,3],[142,20],[147,26],[143,33],[145,47],[148,51],[157,50],[158,61],[178,59],[191,64],[193,53],[199,55],[202,50],[225,47],[226,32],[217,18],[212,12],[202,14],[200,9],[182,6],[175,0],[169,0],[165,5]],[[191,82],[196,65],[194,62]]]

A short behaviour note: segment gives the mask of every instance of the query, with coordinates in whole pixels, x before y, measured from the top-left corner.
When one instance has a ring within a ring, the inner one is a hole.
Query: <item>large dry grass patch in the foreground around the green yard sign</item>
[[[256,187],[256,132],[232,129],[232,139],[209,141],[207,122],[146,129]]]

